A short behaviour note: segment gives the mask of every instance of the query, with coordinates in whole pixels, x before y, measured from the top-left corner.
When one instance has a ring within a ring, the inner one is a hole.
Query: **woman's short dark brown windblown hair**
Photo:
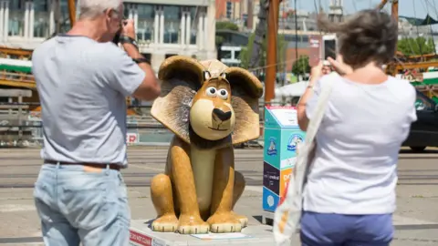
[[[353,68],[371,61],[377,65],[388,63],[397,48],[397,21],[376,9],[362,10],[343,23],[332,23],[325,15],[319,15],[318,26],[337,35],[339,54]]]

